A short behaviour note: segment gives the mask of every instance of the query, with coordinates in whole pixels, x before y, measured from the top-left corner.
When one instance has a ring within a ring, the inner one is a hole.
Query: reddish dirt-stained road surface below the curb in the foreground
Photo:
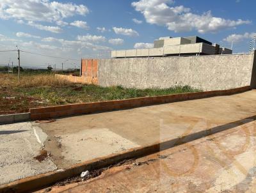
[[[38,192],[256,192],[255,128],[246,123]]]

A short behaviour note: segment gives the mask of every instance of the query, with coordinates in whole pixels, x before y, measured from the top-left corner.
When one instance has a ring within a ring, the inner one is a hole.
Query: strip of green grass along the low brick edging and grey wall
[[[120,100],[143,96],[170,95],[174,93],[190,93],[198,91],[189,86],[176,86],[168,89],[134,89],[122,86],[101,87],[96,85],[74,85],[61,88],[17,88],[16,92],[25,96],[44,98],[49,104],[70,104],[79,102],[97,102],[104,100]]]

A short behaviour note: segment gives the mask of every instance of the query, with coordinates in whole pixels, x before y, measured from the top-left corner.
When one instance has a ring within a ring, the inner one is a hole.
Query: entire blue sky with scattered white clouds
[[[200,36],[248,52],[256,35],[255,0],[0,0],[0,50],[62,58],[106,58],[116,49],[149,48],[160,36]],[[21,53],[22,64],[44,68],[63,59]],[[0,52],[0,65],[17,63]],[[66,67],[79,61],[65,61]]]

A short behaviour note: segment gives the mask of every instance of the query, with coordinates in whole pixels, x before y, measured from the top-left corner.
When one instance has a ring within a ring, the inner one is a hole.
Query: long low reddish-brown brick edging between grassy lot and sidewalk
[[[49,118],[59,118],[62,116],[132,109],[135,107],[142,107],[146,105],[164,104],[184,100],[194,100],[212,96],[232,95],[235,93],[241,93],[248,90],[250,90],[250,86],[219,91],[203,91],[198,93],[148,96],[141,98],[130,98],[125,100],[111,100],[104,102],[91,102],[82,104],[59,105],[53,107],[41,107],[29,109],[29,112],[31,113],[31,120],[45,120]]]

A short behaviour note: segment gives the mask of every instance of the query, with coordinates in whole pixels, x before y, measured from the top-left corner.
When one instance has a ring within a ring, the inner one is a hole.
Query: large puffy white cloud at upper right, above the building
[[[242,24],[249,24],[249,20],[229,20],[213,17],[211,11],[202,15],[191,12],[184,6],[170,6],[170,0],[140,0],[132,2],[136,11],[141,12],[149,24],[166,26],[170,31],[181,32],[196,29],[199,33],[217,32]]]

